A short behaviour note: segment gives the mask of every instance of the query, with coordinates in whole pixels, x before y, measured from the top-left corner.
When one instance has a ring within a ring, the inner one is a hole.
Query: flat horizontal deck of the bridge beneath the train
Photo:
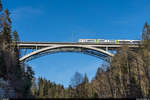
[[[43,48],[43,47],[51,47],[51,46],[76,46],[76,45],[85,45],[85,46],[92,46],[96,48],[109,48],[109,49],[116,49],[120,48],[122,45],[128,45],[130,48],[137,48],[139,44],[121,44],[121,43],[67,43],[67,42],[18,42],[18,47],[22,49],[35,49],[35,48]]]

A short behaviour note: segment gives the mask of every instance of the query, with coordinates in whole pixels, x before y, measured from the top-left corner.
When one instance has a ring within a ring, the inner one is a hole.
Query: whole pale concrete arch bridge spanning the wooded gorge
[[[62,42],[18,42],[19,49],[24,50],[20,62],[27,62],[41,56],[58,52],[78,52],[91,56],[98,57],[105,61],[110,61],[114,56],[111,51],[120,48],[123,44],[110,44],[110,43],[62,43]],[[138,44],[125,44],[130,48],[137,48]],[[27,53],[30,50],[32,52]]]

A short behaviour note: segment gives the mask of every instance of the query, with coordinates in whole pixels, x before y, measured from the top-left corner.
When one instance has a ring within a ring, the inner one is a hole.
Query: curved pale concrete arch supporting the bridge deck
[[[114,55],[108,51],[105,51],[100,48],[95,48],[91,46],[84,46],[84,45],[57,45],[57,46],[50,46],[45,47],[42,49],[38,49],[36,51],[33,51],[23,57],[21,57],[19,60],[20,62],[30,61],[32,59],[35,59],[39,56],[44,56],[47,54],[52,53],[58,53],[58,52],[79,52],[79,53],[85,53],[91,56],[96,56],[98,58],[101,58],[103,60],[106,60],[108,57],[113,57]]]

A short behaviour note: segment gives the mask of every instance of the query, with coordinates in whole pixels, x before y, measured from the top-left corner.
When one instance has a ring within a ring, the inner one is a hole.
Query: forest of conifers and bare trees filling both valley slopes
[[[5,97],[14,98],[149,98],[150,97],[150,25],[143,26],[141,44],[136,50],[122,46],[112,61],[97,69],[89,82],[87,75],[76,72],[68,88],[34,76],[32,67],[19,62],[19,36],[12,30],[8,9],[0,0],[0,88]],[[8,84],[2,84],[2,82]],[[1,94],[0,94],[1,95]],[[1,97],[1,96],[0,96]]]

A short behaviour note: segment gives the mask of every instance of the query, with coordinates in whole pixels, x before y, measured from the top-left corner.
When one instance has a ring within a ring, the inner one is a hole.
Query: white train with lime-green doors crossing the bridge
[[[132,43],[139,44],[140,40],[105,40],[105,39],[79,39],[79,43],[115,43],[115,44],[123,44],[123,43]]]

